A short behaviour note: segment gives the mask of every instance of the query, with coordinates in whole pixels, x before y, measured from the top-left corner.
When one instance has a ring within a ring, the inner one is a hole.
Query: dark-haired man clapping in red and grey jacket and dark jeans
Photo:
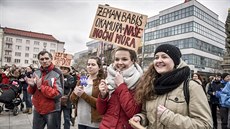
[[[60,129],[63,75],[52,63],[52,55],[47,51],[38,54],[41,64],[32,78],[26,78],[28,93],[33,95],[33,129]]]

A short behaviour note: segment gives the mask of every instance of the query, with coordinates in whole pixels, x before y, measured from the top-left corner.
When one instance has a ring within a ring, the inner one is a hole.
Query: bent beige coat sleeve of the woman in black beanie
[[[170,129],[212,129],[211,111],[203,88],[192,81],[189,85],[188,116],[166,109],[160,117],[160,122]]]

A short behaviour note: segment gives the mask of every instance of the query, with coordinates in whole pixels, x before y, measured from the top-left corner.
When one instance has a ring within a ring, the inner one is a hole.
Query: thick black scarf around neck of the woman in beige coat
[[[176,89],[190,75],[188,66],[165,73],[157,78],[153,84],[157,95],[162,95]]]

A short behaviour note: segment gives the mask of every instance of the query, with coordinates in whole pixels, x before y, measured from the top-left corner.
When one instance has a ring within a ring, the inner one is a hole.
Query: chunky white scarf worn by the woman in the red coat
[[[111,94],[117,88],[114,83],[116,71],[113,68],[112,64],[107,68],[107,74],[108,76],[106,78],[106,82],[109,89],[109,96],[111,96]],[[137,63],[135,63],[131,65],[128,69],[122,71],[121,74],[123,75],[124,83],[126,83],[128,89],[132,90],[136,87],[135,84],[143,74],[143,71],[141,67]]]

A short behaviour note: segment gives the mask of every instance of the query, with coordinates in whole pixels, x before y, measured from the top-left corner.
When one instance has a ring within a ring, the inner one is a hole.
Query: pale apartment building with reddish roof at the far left
[[[65,44],[49,34],[7,27],[0,28],[0,37],[0,67],[13,64],[39,67],[37,55],[40,51],[63,52]]]

